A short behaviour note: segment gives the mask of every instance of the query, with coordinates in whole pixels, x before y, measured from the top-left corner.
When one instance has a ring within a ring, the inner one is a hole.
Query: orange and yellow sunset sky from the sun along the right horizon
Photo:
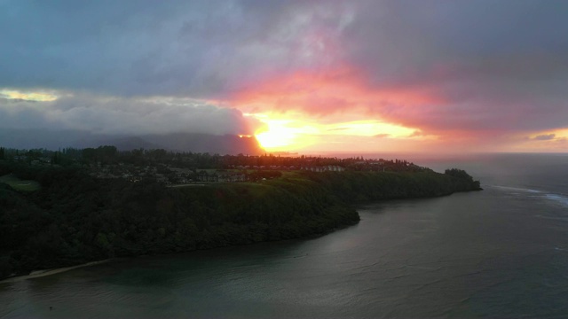
[[[422,119],[443,113],[445,97],[427,87],[374,88],[365,75],[344,65],[276,75],[225,103],[261,122],[255,135],[268,152],[558,152],[565,147],[566,129],[516,136],[438,128]],[[547,134],[555,141],[535,138]]]

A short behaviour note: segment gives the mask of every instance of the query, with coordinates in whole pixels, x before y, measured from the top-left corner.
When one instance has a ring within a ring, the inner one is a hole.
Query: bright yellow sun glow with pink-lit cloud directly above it
[[[230,105],[264,124],[256,139],[268,152],[398,149],[435,141],[422,128],[421,105],[444,104],[428,88],[375,87],[351,66],[279,74],[235,93]],[[400,113],[408,116],[400,116]]]

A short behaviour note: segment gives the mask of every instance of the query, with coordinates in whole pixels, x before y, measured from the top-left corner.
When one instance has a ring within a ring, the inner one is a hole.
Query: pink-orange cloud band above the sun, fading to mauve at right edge
[[[300,112],[319,121],[344,121],[358,114],[359,119],[387,121],[446,138],[558,128],[568,118],[564,100],[510,97],[508,101],[483,94],[454,100],[426,84],[377,88],[355,66],[280,74],[238,92],[229,104],[250,113]]]

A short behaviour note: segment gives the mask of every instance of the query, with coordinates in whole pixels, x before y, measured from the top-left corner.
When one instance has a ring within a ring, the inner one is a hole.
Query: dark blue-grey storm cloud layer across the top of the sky
[[[214,94],[266,69],[317,66],[322,57],[302,56],[303,33],[336,29],[346,12],[329,36],[377,84],[448,85],[465,98],[460,83],[550,93],[533,82],[568,78],[564,1],[4,0],[0,9],[4,87]]]

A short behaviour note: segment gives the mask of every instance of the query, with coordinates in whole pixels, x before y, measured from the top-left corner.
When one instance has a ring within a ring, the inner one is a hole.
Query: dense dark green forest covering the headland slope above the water
[[[165,187],[97,179],[80,166],[0,160],[0,277],[120,256],[175,253],[310,237],[359,222],[351,204],[473,191],[459,169],[421,172],[285,172],[257,183]]]

